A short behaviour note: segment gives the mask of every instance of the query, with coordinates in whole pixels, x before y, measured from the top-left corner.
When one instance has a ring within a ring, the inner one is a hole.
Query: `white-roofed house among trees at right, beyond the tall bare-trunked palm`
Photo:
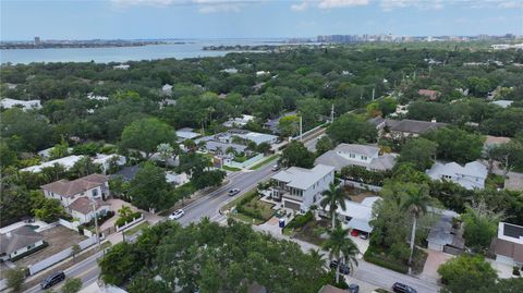
[[[426,173],[433,180],[452,181],[467,190],[483,190],[485,188],[488,170],[478,161],[467,162],[465,166],[457,162],[435,162]]]

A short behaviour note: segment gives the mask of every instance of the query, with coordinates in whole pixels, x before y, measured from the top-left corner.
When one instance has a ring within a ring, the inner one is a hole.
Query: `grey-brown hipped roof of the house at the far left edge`
[[[12,254],[41,240],[44,240],[44,236],[33,231],[28,225],[23,225],[0,235],[0,254]]]

